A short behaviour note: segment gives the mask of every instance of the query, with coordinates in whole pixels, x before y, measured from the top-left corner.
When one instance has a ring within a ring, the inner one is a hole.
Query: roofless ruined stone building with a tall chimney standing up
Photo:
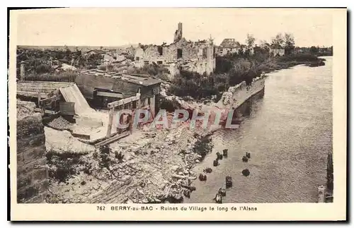
[[[215,69],[215,46],[212,39],[191,42],[185,40],[182,23],[174,34],[172,44],[140,46],[135,51],[135,66],[159,64],[169,68],[172,75],[178,69],[210,75]]]

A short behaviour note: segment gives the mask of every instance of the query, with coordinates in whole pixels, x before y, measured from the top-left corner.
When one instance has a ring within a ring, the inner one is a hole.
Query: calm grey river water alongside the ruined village
[[[184,203],[212,203],[225,176],[232,176],[223,203],[315,203],[326,183],[326,157],[332,151],[332,57],[325,66],[295,66],[269,73],[265,92],[245,102],[239,129],[212,135],[213,152],[195,167],[211,167],[207,181],[194,181],[196,191]],[[212,167],[216,152],[228,157]],[[249,162],[242,162],[251,152]],[[243,176],[241,171],[251,174]]]

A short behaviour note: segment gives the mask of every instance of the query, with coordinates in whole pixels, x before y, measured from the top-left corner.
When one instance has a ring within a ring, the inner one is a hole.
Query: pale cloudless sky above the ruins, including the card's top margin
[[[18,45],[169,44],[181,22],[186,40],[211,36],[217,45],[224,38],[244,43],[249,33],[259,43],[288,32],[299,47],[329,47],[331,12],[320,8],[61,8],[22,11],[14,18]]]

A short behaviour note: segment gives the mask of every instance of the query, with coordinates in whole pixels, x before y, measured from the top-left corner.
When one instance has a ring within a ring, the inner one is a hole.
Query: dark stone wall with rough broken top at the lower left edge
[[[45,131],[33,102],[17,101],[17,200],[42,203],[48,186]]]

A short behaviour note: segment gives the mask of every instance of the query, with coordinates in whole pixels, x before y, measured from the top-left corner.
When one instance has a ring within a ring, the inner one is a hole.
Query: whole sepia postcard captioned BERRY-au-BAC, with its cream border
[[[346,8],[9,20],[11,220],[346,220]]]

